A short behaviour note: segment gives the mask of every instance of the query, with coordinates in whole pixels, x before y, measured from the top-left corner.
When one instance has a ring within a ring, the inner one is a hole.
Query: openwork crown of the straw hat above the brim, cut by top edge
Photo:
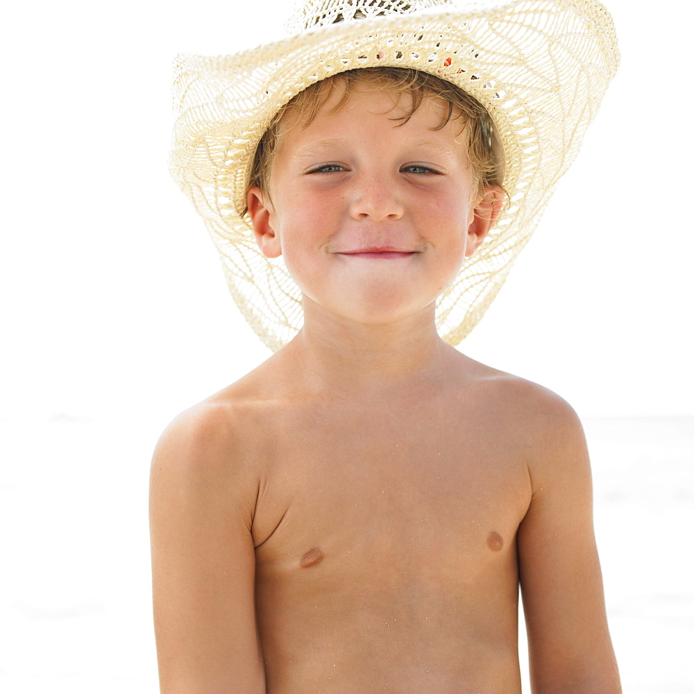
[[[303,0],[285,24],[291,34],[382,15],[409,15],[425,8],[450,5],[451,0]]]

